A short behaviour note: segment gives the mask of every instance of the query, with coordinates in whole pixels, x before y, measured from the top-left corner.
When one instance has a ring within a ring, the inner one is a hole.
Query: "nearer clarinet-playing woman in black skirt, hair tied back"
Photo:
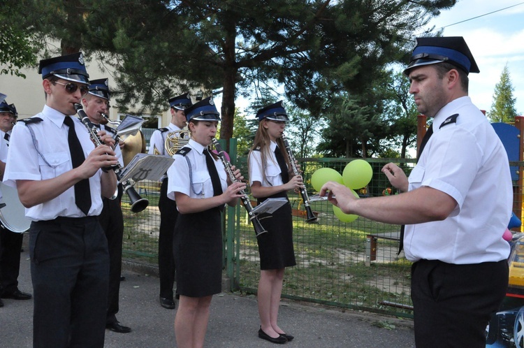
[[[211,298],[221,292],[221,211],[226,203],[237,204],[238,191],[246,185],[231,184],[221,161],[208,150],[220,121],[212,99],[187,108],[186,117],[191,138],[168,169],[168,197],[174,196],[180,212],[173,245],[180,293],[175,337],[177,347],[203,347]],[[240,181],[240,171],[232,169]]]

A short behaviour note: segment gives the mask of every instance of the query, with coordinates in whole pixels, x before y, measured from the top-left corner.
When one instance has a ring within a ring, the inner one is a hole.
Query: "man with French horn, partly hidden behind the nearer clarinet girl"
[[[169,99],[171,123],[166,128],[157,129],[151,135],[150,154],[170,156],[166,151],[166,137],[170,132],[180,131],[187,126],[184,109],[191,106],[189,93]],[[173,284],[175,283],[175,259],[173,258],[173,233],[178,210],[175,201],[167,198],[168,177],[161,178],[159,211],[159,277],[160,305],[168,310],[175,308]]]

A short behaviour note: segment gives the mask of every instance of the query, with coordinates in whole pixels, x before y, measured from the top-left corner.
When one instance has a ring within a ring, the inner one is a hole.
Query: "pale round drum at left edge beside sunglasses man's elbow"
[[[0,182],[2,192],[1,203],[6,206],[0,209],[0,222],[3,227],[16,233],[24,233],[31,226],[31,220],[25,217],[24,205],[18,198],[18,192],[14,187]]]

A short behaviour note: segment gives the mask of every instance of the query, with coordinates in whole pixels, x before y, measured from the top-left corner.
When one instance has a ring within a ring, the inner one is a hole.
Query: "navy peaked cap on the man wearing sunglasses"
[[[89,74],[85,68],[84,55],[82,55],[82,52],[42,59],[38,67],[38,73],[42,74],[43,80],[54,75],[64,80],[89,85]]]

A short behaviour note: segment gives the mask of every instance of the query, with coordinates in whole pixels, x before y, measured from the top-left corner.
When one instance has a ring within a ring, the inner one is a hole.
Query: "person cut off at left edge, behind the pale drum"
[[[0,103],[0,141],[9,147],[11,130],[16,122],[18,113],[15,104],[6,101]],[[7,154],[7,153],[6,153]],[[6,161],[6,159],[3,159]],[[3,171],[1,171],[3,175]],[[6,229],[0,224],[0,297],[13,300],[30,300],[30,293],[18,289],[18,275],[20,275],[20,252],[24,235]],[[0,300],[1,306],[1,300]]]

